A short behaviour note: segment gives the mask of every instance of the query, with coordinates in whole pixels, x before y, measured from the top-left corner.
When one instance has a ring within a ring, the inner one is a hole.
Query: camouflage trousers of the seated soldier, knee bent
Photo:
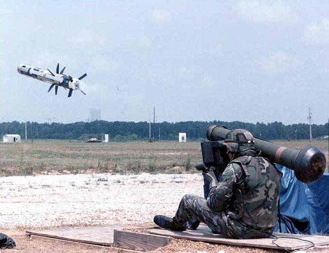
[[[205,223],[214,233],[229,238],[250,239],[268,237],[272,231],[259,231],[247,228],[239,221],[231,219],[224,211],[216,212],[209,209],[206,199],[196,195],[185,195],[179,203],[173,217],[179,224],[188,222],[192,217]]]

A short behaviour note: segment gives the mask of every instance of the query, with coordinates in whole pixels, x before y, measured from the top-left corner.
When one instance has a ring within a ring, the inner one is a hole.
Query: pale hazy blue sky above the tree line
[[[84,96],[21,76],[84,73]],[[0,121],[274,121],[329,116],[327,1],[0,0]],[[152,117],[152,116],[151,116]]]

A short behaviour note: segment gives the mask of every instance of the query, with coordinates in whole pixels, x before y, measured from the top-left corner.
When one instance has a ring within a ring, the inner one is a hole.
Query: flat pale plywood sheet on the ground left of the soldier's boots
[[[37,235],[71,242],[112,246],[113,231],[120,228],[154,228],[150,224],[110,225],[108,227],[55,228],[46,230],[27,230],[27,235]]]

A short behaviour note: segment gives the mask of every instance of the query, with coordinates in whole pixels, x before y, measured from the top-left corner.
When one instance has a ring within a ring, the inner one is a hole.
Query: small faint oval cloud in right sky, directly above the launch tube
[[[297,68],[301,64],[295,57],[279,51],[257,60],[259,68],[269,74],[284,73]]]

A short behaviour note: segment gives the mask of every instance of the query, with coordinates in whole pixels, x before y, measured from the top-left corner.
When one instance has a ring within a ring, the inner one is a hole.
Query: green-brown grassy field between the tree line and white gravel
[[[276,141],[301,149],[308,141]],[[328,142],[313,145],[326,153]],[[0,176],[69,173],[182,173],[196,172],[202,162],[199,142],[82,143],[39,140],[0,143]]]

